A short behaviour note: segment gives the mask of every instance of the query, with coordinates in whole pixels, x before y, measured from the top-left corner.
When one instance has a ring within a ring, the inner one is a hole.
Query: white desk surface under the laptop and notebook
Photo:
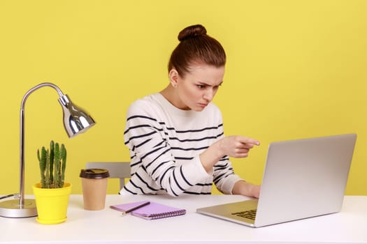
[[[208,195],[108,195],[102,211],[82,209],[72,195],[68,220],[38,224],[35,218],[0,218],[0,243],[367,243],[367,197],[347,196],[340,213],[253,229],[196,213],[196,208],[246,199]],[[186,215],[160,220],[122,216],[111,204],[150,200],[186,208]]]

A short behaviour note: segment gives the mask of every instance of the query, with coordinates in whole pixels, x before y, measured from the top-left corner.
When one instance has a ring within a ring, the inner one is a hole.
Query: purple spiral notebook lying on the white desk
[[[110,208],[113,208],[117,211],[126,212],[131,208],[135,208],[136,206],[143,204],[144,202],[145,201],[136,201],[129,204],[116,204],[111,205]],[[165,204],[158,204],[157,202],[150,201],[150,204],[131,211],[130,213],[131,215],[143,218],[145,220],[156,220],[160,218],[184,215],[186,210],[183,208],[174,208]]]

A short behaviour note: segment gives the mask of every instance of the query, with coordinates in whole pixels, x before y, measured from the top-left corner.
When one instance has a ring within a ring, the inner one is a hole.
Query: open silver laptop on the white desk
[[[264,227],[340,211],[356,134],[273,142],[259,199],[196,209],[197,213]]]

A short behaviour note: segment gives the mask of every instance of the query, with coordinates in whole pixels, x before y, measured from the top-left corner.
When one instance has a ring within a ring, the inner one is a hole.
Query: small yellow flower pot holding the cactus
[[[59,224],[66,221],[71,183],[64,183],[63,188],[45,189],[41,183],[33,186],[36,198],[37,221],[41,224]]]

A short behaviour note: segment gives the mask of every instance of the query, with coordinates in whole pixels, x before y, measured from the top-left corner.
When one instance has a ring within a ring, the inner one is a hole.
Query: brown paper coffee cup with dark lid
[[[105,207],[107,181],[110,173],[107,169],[81,169],[82,196],[84,209],[101,210]]]

